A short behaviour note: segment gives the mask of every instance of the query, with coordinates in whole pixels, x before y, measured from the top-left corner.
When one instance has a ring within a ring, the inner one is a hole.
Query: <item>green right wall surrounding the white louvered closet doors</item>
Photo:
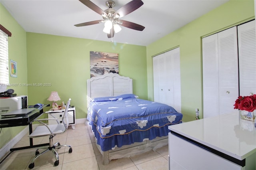
[[[202,118],[202,37],[254,19],[253,0],[231,0],[147,46],[148,99],[154,99],[152,57],[180,47],[183,121]]]

